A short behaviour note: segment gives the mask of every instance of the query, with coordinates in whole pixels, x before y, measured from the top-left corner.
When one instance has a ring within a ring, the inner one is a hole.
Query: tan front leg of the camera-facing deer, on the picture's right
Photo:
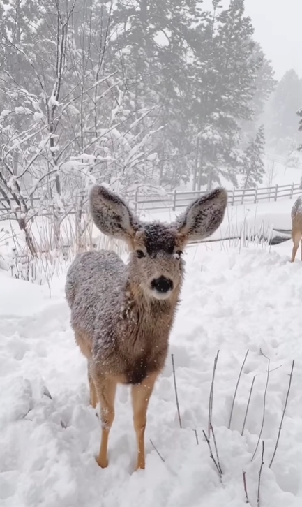
[[[137,469],[145,467],[144,432],[146,429],[146,412],[158,374],[150,374],[142,383],[133,385],[133,423],[137,438]]]

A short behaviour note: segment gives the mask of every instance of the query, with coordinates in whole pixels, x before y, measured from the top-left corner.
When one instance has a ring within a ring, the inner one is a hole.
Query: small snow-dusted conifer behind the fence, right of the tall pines
[[[262,183],[265,174],[264,161],[264,125],[258,128],[256,137],[252,140],[243,156],[243,189]]]

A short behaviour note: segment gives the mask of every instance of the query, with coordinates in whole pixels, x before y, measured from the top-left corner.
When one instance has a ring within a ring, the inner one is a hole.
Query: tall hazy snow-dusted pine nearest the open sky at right
[[[212,18],[206,20],[206,41],[195,53],[193,110],[201,138],[199,183],[208,188],[220,182],[220,175],[236,184],[240,124],[250,122],[255,114],[251,102],[263,65],[262,58],[255,57],[252,32],[243,0],[233,0],[226,10],[214,9]]]

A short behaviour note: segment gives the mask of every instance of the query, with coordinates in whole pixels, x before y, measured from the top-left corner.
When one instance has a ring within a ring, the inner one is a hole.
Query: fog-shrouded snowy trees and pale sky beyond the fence
[[[0,2],[0,210],[76,216],[135,193],[301,178],[299,0]],[[282,164],[282,169],[277,164]],[[287,172],[295,168],[295,172]]]

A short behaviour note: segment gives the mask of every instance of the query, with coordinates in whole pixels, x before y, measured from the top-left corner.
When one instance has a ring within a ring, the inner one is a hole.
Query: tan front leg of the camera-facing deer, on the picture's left
[[[114,399],[116,392],[116,381],[105,377],[93,376],[96,386],[96,396],[100,402],[100,420],[102,423],[102,438],[100,441],[100,452],[96,461],[101,468],[108,465],[107,451],[110,428],[114,420]]]

